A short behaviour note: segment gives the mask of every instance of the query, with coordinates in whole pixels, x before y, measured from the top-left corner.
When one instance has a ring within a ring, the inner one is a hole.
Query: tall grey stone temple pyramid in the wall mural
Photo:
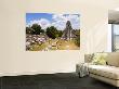
[[[62,38],[65,39],[65,40],[70,40],[75,37],[75,34],[72,33],[72,27],[71,27],[71,23],[70,21],[67,21],[66,23],[66,28],[64,29],[63,31],[63,36]]]

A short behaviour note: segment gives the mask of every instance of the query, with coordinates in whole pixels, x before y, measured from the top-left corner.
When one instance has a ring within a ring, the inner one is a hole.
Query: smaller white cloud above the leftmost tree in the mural
[[[27,26],[31,26],[32,24],[39,24],[43,29],[45,29],[48,26],[51,25],[50,21],[48,21],[47,18],[40,18],[40,20],[34,20],[30,21]]]

